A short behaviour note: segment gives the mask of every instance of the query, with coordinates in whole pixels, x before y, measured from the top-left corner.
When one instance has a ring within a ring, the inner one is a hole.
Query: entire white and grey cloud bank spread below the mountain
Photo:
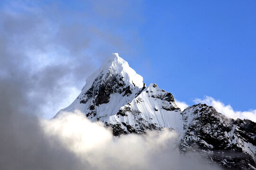
[[[1,115],[0,129],[2,170],[219,169],[192,153],[180,154],[174,131],[116,138],[78,111],[51,120]]]

